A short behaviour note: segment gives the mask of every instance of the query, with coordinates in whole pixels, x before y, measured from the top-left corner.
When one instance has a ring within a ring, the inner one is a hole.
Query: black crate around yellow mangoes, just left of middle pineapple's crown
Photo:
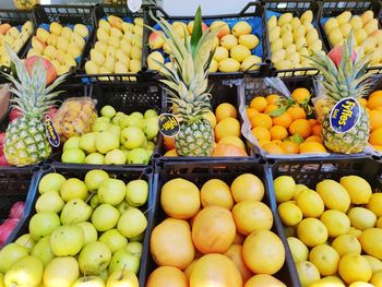
[[[93,9],[93,26],[95,28],[94,36],[91,39],[91,44],[88,49],[86,50],[86,55],[84,55],[84,60],[81,63],[81,70],[79,71],[80,77],[83,82],[91,82],[91,83],[99,83],[99,82],[135,82],[135,81],[142,81],[145,80],[144,69],[138,73],[111,73],[111,74],[86,74],[85,72],[85,63],[91,59],[91,49],[94,48],[96,41],[97,41],[97,29],[98,29],[98,22],[102,19],[106,19],[109,15],[115,15],[121,17],[123,21],[128,23],[132,23],[134,17],[142,17],[144,19],[144,7],[135,12],[132,13],[129,8],[127,7],[126,2],[122,4],[123,1],[118,1],[118,3],[114,4],[97,4]],[[146,43],[144,41],[148,34],[147,28],[143,28],[143,37],[142,37],[142,47],[146,46]],[[142,68],[144,68],[144,62],[146,59],[145,49],[142,48]]]

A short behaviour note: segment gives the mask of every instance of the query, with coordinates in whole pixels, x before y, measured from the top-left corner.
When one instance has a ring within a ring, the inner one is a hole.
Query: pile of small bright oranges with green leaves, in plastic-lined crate
[[[309,101],[310,93],[299,87],[291,93],[295,104],[280,115],[280,96],[256,96],[247,108],[252,125],[252,134],[259,145],[270,154],[326,153],[321,136],[321,123],[308,119],[302,105]],[[298,140],[297,140],[298,139]]]

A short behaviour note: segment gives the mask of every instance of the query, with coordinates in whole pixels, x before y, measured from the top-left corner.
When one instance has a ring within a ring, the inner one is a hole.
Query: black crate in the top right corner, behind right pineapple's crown
[[[337,16],[344,11],[350,11],[351,14],[360,15],[363,12],[371,10],[374,13],[374,19],[380,20],[382,17],[381,9],[382,9],[382,4],[378,0],[367,0],[367,1],[323,0],[321,2],[319,26],[327,50],[331,50],[333,47],[330,44],[329,37],[324,31],[325,19]],[[382,28],[381,21],[379,21],[378,25],[379,25],[379,28],[381,29]],[[369,67],[368,71],[371,73],[380,74],[382,73],[382,64]]]

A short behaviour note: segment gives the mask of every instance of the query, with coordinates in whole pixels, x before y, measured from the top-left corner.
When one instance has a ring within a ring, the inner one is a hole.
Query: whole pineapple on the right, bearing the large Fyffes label
[[[327,111],[343,98],[361,98],[370,89],[369,74],[366,74],[369,60],[366,57],[356,57],[353,62],[354,35],[343,46],[343,58],[336,67],[329,56],[313,52],[309,58],[323,75],[322,85],[324,94],[329,97],[327,107],[321,107]],[[336,133],[330,124],[327,112],[322,121],[322,137],[325,146],[335,153],[351,154],[360,153],[368,144],[369,139],[369,116],[366,109],[360,106],[359,120],[356,125],[345,133]]]

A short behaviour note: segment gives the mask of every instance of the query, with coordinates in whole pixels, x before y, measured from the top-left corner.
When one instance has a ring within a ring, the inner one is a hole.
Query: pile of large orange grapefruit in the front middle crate
[[[263,196],[264,186],[252,174],[230,186],[210,179],[201,189],[182,178],[167,181],[160,206],[168,217],[150,242],[158,267],[146,287],[286,286],[273,276],[285,249],[271,230],[274,218]]]

